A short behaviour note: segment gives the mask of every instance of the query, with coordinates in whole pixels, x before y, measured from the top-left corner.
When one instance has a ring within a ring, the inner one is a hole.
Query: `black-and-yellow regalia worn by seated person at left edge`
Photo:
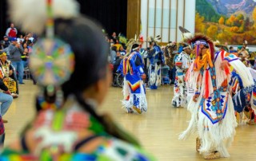
[[[10,70],[13,71],[11,76],[9,76]],[[14,67],[10,64],[10,61],[6,61],[5,65],[0,61],[0,73],[2,78],[7,78],[4,84],[6,84],[6,87],[10,90],[11,95],[16,97],[18,94],[18,84],[14,77]]]

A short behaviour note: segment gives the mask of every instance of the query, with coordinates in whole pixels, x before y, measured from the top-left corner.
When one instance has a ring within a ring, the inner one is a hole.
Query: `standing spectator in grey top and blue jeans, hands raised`
[[[18,84],[23,83],[24,67],[22,63],[22,53],[24,52],[22,45],[17,42],[17,39],[13,39],[9,46],[10,61],[14,65],[14,69],[18,71]],[[14,74],[15,76],[15,74]]]

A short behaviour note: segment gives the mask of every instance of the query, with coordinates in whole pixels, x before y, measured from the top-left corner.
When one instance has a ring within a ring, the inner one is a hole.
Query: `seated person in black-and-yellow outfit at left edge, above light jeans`
[[[7,61],[6,53],[0,55],[0,78],[3,80],[6,87],[10,90],[11,96],[14,98],[18,97],[18,84],[14,77],[14,67],[10,61]]]

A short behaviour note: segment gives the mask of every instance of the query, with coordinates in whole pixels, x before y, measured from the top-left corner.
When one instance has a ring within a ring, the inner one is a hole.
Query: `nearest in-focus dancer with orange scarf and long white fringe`
[[[188,70],[186,81],[195,93],[188,104],[192,113],[189,127],[179,139],[198,132],[197,150],[205,159],[229,157],[227,147],[234,139],[237,126],[234,105],[227,90],[230,65],[239,73],[245,87],[253,85],[254,81],[238,57],[228,55],[224,50],[214,54],[214,44],[208,37],[197,34],[190,38],[189,43],[196,58]]]

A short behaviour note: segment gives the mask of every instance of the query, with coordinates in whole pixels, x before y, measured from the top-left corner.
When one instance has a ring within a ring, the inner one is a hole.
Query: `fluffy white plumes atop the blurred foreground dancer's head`
[[[46,0],[9,0],[9,14],[12,22],[22,30],[42,33],[46,26]],[[75,0],[53,0],[54,18],[74,18],[79,14]]]

